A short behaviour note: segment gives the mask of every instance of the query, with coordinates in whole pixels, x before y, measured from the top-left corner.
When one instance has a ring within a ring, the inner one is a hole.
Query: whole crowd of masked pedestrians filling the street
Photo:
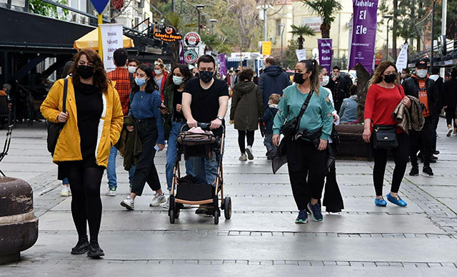
[[[229,123],[238,131],[239,161],[255,157],[253,143],[260,126],[266,158],[273,164],[281,155],[287,160],[298,209],[295,222],[308,222],[308,213],[313,221],[322,221],[321,205],[331,213],[343,210],[334,161],[339,141],[336,126],[362,122],[358,122],[357,84],[338,66],[328,76],[316,60],[299,61],[291,84],[273,57],[266,59],[260,76],[253,69],[240,68],[225,80],[216,78],[217,64],[211,55],[199,57],[193,68],[176,64],[168,70],[161,59],[151,65],[141,64],[129,58],[126,50],[117,49],[114,64],[116,69],[106,74],[99,55],[82,49],[41,106],[48,121],[64,124],[53,161],[59,164],[58,175],[63,180],[61,195],[72,196],[71,213],[79,240],[71,253],[104,255],[98,243],[101,178],[106,169],[105,194],[116,196],[119,152],[124,156],[130,183],[130,193],[121,206],[134,210],[136,197],[143,194],[148,183],[154,191],[150,206],[169,208],[154,163],[156,153],[166,149],[163,181],[170,195],[179,132],[185,126],[198,128],[202,123],[209,124],[214,134],[230,128],[224,121],[230,96]],[[383,180],[388,151],[395,163],[386,195],[391,203],[407,206],[398,190],[408,161],[411,176],[419,173],[418,159],[423,161],[422,173],[433,176],[431,163],[439,153],[436,129],[442,109],[446,111],[446,136],[457,135],[456,85],[457,69],[445,81],[437,69],[428,75],[425,60],[418,61],[411,75],[408,70],[400,74],[390,61],[381,62],[373,72],[364,105],[362,137],[371,143],[376,206],[387,205]],[[215,184],[216,153],[193,156],[185,163],[188,176]],[[211,205],[201,205],[196,213],[208,213]]]

